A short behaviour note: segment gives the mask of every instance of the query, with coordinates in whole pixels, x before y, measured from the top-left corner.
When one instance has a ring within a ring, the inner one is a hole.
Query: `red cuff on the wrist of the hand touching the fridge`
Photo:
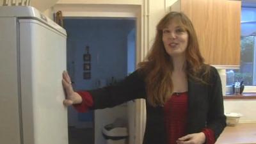
[[[77,93],[81,95],[83,100],[81,104],[73,104],[73,106],[79,113],[85,113],[93,106],[92,95],[85,91]]]

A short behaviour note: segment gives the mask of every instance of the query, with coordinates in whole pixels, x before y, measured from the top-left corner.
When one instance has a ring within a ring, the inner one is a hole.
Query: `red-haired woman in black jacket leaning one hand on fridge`
[[[170,12],[160,20],[147,61],[124,81],[74,92],[63,72],[63,86],[65,106],[81,112],[146,99],[144,144],[214,143],[226,126],[220,76],[204,64],[195,29],[183,13]]]

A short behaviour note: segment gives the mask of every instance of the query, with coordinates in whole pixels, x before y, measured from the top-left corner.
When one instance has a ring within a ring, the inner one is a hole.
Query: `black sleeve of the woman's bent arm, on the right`
[[[211,86],[210,105],[207,115],[207,127],[214,131],[215,140],[217,140],[226,127],[226,116],[224,115],[220,76],[216,68],[212,67],[211,71],[213,83]]]

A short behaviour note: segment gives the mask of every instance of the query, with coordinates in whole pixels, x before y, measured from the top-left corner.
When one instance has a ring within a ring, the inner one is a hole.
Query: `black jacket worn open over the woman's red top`
[[[201,132],[204,128],[214,131],[215,140],[226,126],[223,112],[223,95],[220,76],[211,67],[211,84],[188,80],[188,124],[186,133]],[[115,86],[89,91],[93,98],[91,109],[112,108],[133,99],[146,99],[144,76],[138,70]],[[147,103],[147,123],[143,144],[166,144],[163,107],[156,108]]]

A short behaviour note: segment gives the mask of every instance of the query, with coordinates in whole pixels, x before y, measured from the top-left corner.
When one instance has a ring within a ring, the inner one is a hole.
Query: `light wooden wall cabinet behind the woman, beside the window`
[[[193,22],[206,63],[240,65],[241,1],[179,0],[171,10],[184,12]]]

